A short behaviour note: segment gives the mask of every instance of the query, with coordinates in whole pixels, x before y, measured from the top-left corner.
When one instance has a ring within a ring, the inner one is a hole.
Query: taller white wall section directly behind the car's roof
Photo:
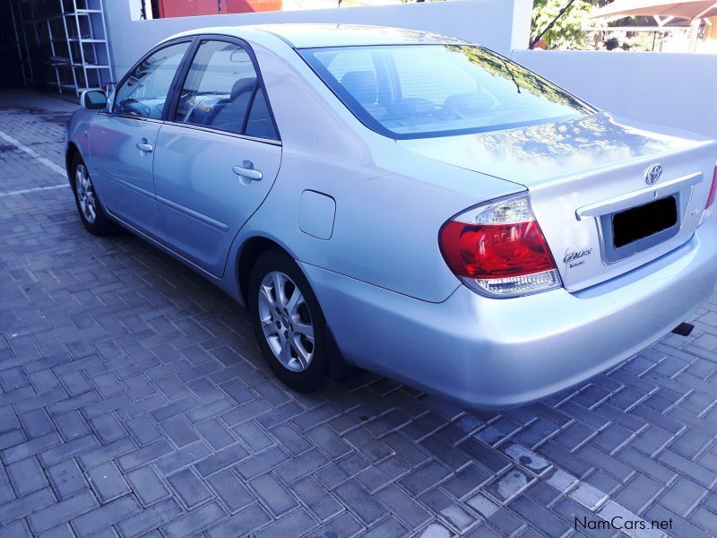
[[[161,39],[179,31],[234,24],[344,22],[396,26],[468,39],[507,55],[528,43],[532,6],[532,0],[450,0],[136,21],[136,14],[133,17],[130,11],[132,3],[133,0],[105,0],[116,80]]]

